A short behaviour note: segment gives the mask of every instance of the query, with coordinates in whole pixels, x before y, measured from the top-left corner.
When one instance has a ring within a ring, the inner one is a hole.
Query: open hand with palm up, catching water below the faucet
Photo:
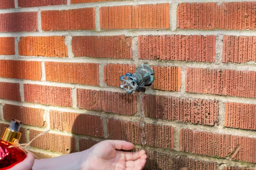
[[[84,155],[86,161],[81,162],[81,170],[142,170],[147,159],[145,150],[136,153],[118,151],[133,148],[134,144],[125,141],[99,142],[84,152],[84,154],[89,154]],[[81,153],[83,155],[83,152]],[[85,159],[81,158],[80,160]]]

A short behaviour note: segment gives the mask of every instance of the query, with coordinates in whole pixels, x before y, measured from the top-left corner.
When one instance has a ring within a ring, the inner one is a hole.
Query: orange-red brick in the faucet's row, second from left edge
[[[84,85],[99,85],[99,64],[44,62],[46,80]]]

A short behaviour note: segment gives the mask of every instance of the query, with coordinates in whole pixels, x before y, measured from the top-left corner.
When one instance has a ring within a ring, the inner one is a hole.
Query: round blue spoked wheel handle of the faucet
[[[133,75],[128,72],[125,75],[122,75],[120,77],[121,85],[120,88],[126,90],[128,94],[131,94],[133,91],[136,91],[138,89],[138,84],[136,82],[136,79],[133,77]],[[127,88],[125,88],[127,86]]]

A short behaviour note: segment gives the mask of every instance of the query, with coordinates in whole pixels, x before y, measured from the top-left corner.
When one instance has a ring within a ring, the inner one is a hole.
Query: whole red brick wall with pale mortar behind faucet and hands
[[[29,148],[41,158],[141,148],[140,102],[119,77],[148,64],[145,169],[253,170],[255,62],[253,0],[2,0],[0,130],[50,129]]]

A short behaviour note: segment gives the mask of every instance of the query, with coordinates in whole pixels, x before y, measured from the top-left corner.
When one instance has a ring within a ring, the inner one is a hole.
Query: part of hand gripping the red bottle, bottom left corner
[[[31,170],[33,164],[34,164],[35,158],[32,155],[32,153],[28,153],[26,158],[21,161],[20,163],[16,164],[9,170]]]

